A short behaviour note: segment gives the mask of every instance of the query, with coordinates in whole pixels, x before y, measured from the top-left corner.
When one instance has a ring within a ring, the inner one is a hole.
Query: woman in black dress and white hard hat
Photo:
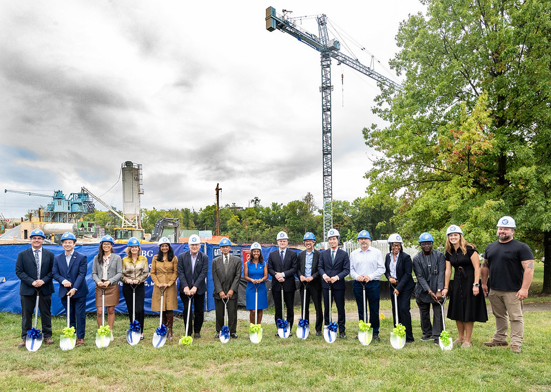
[[[446,235],[446,281],[442,295],[448,294],[453,267],[448,318],[455,320],[459,331],[455,343],[462,343],[461,348],[466,348],[470,347],[475,321],[486,323],[488,320],[486,301],[480,291],[480,260],[475,246],[465,241],[459,226],[448,227]]]

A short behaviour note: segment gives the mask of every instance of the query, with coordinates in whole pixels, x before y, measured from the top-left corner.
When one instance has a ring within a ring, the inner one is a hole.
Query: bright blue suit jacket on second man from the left
[[[87,257],[82,253],[76,252],[76,250],[73,251],[68,267],[67,261],[65,261],[65,252],[61,252],[54,257],[54,268],[52,269],[52,273],[54,274],[54,279],[59,282],[59,298],[66,296],[71,288],[76,289],[73,298],[81,298],[88,294],[88,285],[86,283],[87,269]],[[68,290],[67,287],[64,287],[63,283],[61,283],[65,281],[65,279],[72,283],[72,287]]]

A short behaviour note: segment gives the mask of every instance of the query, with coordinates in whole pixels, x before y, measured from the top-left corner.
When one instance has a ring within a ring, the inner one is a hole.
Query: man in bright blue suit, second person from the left
[[[86,329],[86,270],[88,268],[87,257],[74,250],[76,237],[72,232],[64,232],[61,235],[61,245],[65,252],[54,257],[52,273],[54,279],[59,282],[59,298],[65,311],[67,301],[65,296],[70,296],[70,326],[76,327],[76,345],[84,344]]]

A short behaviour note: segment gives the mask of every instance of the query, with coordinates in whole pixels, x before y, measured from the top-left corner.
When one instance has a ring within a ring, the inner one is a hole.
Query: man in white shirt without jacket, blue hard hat
[[[367,230],[362,230],[357,235],[360,248],[350,254],[350,276],[354,279],[352,285],[357,304],[357,314],[360,320],[364,320],[364,286],[366,290],[366,302],[369,305],[369,323],[373,328],[373,339],[379,338],[379,279],[384,274],[383,254],[380,250],[371,246],[371,235]]]

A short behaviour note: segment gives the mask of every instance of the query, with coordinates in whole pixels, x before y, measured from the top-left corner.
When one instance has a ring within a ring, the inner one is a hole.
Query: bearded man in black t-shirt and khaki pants
[[[499,219],[497,241],[490,243],[484,252],[482,291],[490,299],[496,325],[494,337],[484,345],[506,346],[510,321],[511,349],[520,353],[524,331],[522,301],[528,297],[534,276],[534,254],[526,243],[512,238],[514,228],[512,217]]]

